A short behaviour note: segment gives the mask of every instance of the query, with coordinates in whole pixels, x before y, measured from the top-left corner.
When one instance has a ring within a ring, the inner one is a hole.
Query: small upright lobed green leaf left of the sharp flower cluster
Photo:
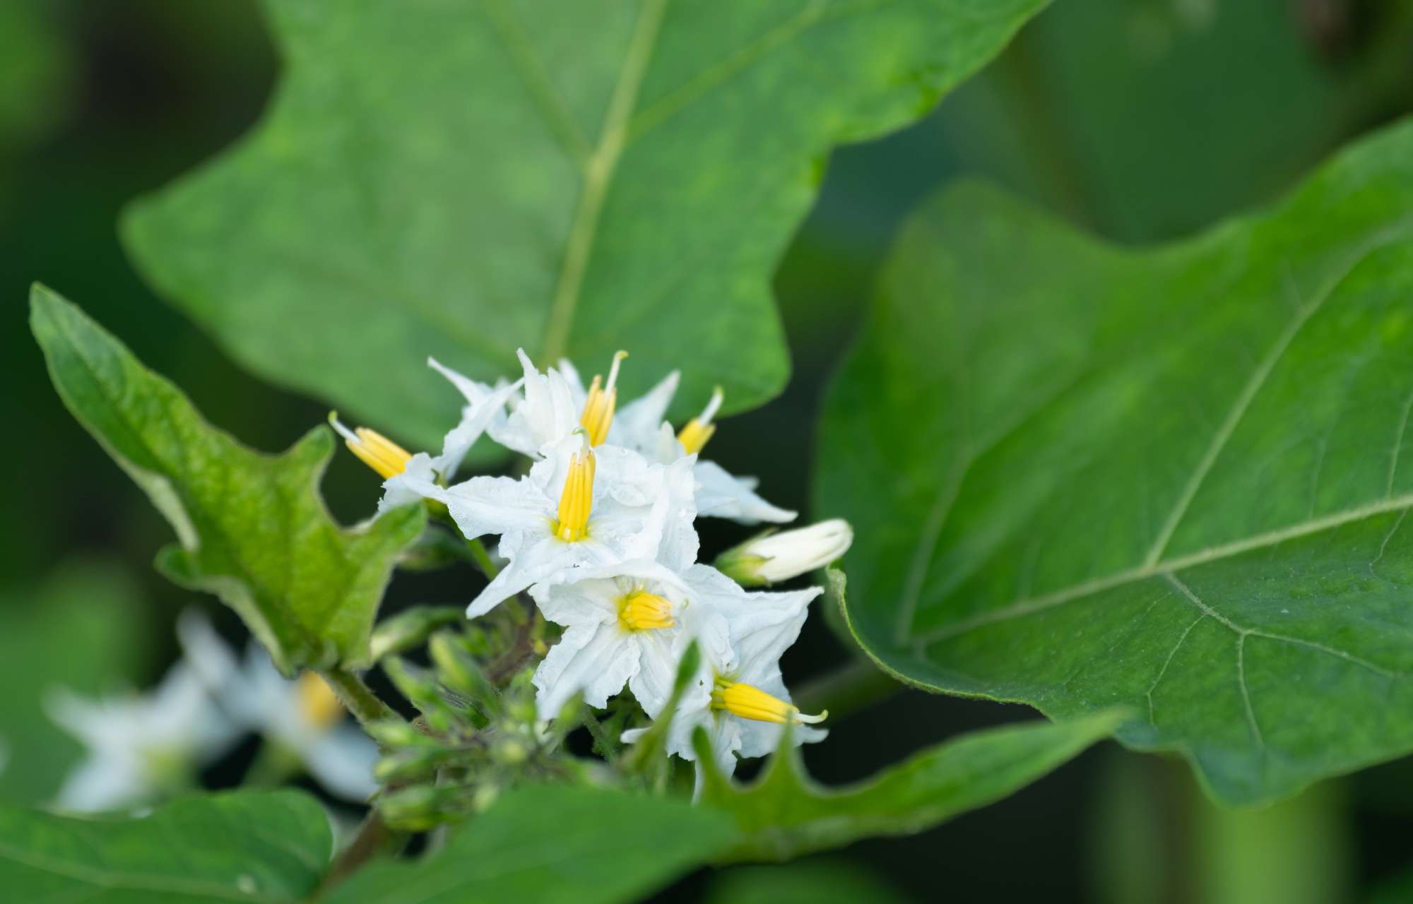
[[[422,527],[421,507],[341,528],[318,493],[333,451],[326,427],[283,455],[254,452],[75,305],[35,285],[30,309],[64,404],[177,531],[158,569],[220,596],[285,671],[366,664],[373,616],[398,549]]]

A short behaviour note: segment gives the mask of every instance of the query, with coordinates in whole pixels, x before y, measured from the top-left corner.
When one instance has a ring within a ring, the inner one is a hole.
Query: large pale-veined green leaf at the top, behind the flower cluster
[[[261,126],[140,201],[147,278],[244,366],[437,442],[479,379],[630,349],[780,391],[770,275],[828,150],[916,120],[1044,0],[268,0]],[[591,370],[592,373],[592,370]]]

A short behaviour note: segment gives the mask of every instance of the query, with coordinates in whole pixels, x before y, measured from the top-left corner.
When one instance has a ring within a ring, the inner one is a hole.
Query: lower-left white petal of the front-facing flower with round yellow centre
[[[555,655],[561,647],[565,653]],[[536,670],[536,708],[552,719],[579,691],[589,706],[603,708],[636,674],[637,644],[617,624],[574,626]]]

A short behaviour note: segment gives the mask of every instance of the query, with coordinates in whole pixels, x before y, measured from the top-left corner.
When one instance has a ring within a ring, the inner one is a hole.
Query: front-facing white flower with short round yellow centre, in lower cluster
[[[644,710],[660,712],[692,638],[714,661],[735,660],[731,613],[698,592],[697,569],[678,575],[674,568],[625,562],[586,569],[574,583],[536,588],[544,617],[567,629],[534,674],[541,719],[552,719],[578,691],[591,706],[606,706],[625,684]]]

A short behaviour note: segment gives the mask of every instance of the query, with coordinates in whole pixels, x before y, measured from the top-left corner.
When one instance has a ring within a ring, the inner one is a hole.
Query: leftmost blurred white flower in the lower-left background
[[[185,662],[146,695],[85,699],[57,689],[45,708],[89,751],[57,799],[61,808],[79,812],[147,804],[177,792],[240,734]]]

